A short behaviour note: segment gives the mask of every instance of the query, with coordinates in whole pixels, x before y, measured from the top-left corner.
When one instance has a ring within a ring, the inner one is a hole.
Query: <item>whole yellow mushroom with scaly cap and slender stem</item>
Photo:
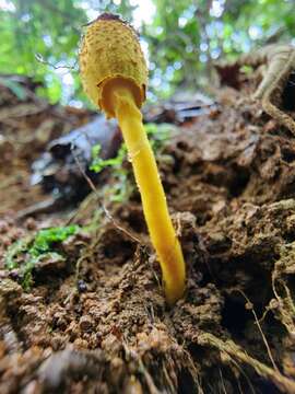
[[[101,15],[87,27],[80,68],[90,99],[108,118],[118,119],[161,264],[165,296],[173,304],[184,294],[186,268],[139,111],[145,100],[148,69],[133,28],[118,16]]]

